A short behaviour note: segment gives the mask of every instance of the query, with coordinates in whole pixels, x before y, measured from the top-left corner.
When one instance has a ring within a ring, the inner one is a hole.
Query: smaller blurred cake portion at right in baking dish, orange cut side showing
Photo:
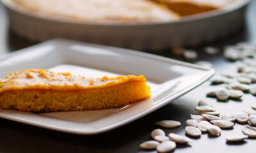
[[[181,16],[219,9],[237,0],[152,0],[168,5]]]

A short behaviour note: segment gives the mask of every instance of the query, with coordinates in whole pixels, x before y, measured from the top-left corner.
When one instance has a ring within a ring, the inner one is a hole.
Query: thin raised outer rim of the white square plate
[[[40,123],[36,123],[33,121],[28,121],[28,120],[24,120],[24,119],[17,119],[17,117],[10,117],[8,115],[3,115],[0,113],[0,117],[4,118],[4,119],[9,119],[9,120],[13,120],[16,122],[21,122],[24,124],[29,124],[32,126],[36,126],[36,127],[40,127],[40,128],[46,128],[46,129],[52,129],[55,131],[61,131],[61,132],[65,132],[65,133],[73,133],[73,134],[78,134],[78,135],[95,135],[95,134],[99,134],[99,133],[104,133],[106,131],[110,131],[111,129],[115,129],[115,128],[119,128],[120,126],[123,126],[125,124],[128,124],[136,119],[140,119],[141,117],[148,115],[149,113],[154,112],[155,110],[168,105],[168,103],[172,102],[173,100],[179,98],[180,96],[183,96],[184,94],[188,93],[189,91],[192,91],[193,89],[195,89],[196,87],[198,87],[199,85],[203,84],[204,82],[206,82],[207,80],[209,80],[209,78],[211,78],[214,75],[214,69],[212,68],[206,68],[204,66],[198,66],[195,64],[190,64],[188,62],[182,62],[182,61],[178,61],[175,59],[170,59],[168,57],[163,57],[160,55],[154,55],[154,54],[149,54],[149,53],[145,53],[145,52],[139,52],[139,51],[135,51],[135,50],[130,50],[130,49],[125,49],[125,48],[118,48],[118,47],[109,47],[106,45],[97,45],[97,44],[93,44],[93,43],[84,43],[81,41],[74,41],[74,40],[67,40],[67,39],[53,39],[53,40],[49,40],[49,41],[45,41],[43,43],[39,43],[37,45],[33,45],[31,47],[26,47],[26,48],[22,48],[21,50],[18,50],[16,52],[12,52],[10,54],[5,54],[0,56],[0,61],[3,61],[4,59],[8,59],[9,57],[13,57],[15,55],[19,55],[22,54],[23,52],[29,52],[31,50],[33,50],[33,48],[37,48],[37,47],[41,47],[44,45],[47,45],[49,43],[61,43],[61,44],[79,44],[79,45],[89,45],[89,46],[93,46],[93,47],[97,47],[97,48],[105,48],[107,50],[111,50],[113,52],[118,52],[121,54],[128,54],[128,55],[139,55],[141,57],[145,57],[145,58],[150,58],[150,59],[155,59],[157,61],[165,61],[165,62],[172,62],[173,64],[179,64],[182,66],[186,66],[189,68],[194,68],[194,69],[202,69],[204,71],[207,71],[207,75],[204,76],[204,78],[202,78],[201,80],[198,80],[197,82],[194,82],[193,84],[189,85],[188,87],[175,92],[174,94],[172,94],[171,96],[167,96],[166,98],[162,99],[161,101],[159,101],[159,103],[157,103],[157,105],[154,105],[154,107],[138,113],[137,115],[134,115],[132,117],[129,117],[129,119],[125,119],[122,120],[121,122],[116,122],[115,124],[111,124],[110,126],[107,126],[106,128],[99,128],[97,130],[92,131],[76,131],[76,130],[71,130],[71,129],[65,129],[65,128],[54,128],[54,126],[49,126],[49,125],[44,125],[44,124],[40,124]],[[63,51],[60,51],[63,52]]]

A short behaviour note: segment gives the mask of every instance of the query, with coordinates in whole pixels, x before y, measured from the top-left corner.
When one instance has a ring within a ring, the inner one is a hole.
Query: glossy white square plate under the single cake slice
[[[214,70],[166,57],[70,40],[51,40],[0,57],[0,78],[10,71],[43,68],[86,77],[144,75],[152,98],[134,105],[83,112],[26,113],[0,110],[0,117],[67,133],[109,131],[167,105],[204,83]]]

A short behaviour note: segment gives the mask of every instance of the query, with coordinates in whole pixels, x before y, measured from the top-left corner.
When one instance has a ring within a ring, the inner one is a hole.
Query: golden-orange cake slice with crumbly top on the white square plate
[[[149,97],[150,87],[142,75],[85,78],[26,69],[0,80],[0,108],[22,112],[102,110]]]

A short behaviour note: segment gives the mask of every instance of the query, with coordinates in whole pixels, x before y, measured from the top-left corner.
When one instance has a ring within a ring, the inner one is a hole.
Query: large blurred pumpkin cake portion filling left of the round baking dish
[[[96,23],[145,23],[179,19],[148,0],[12,0],[33,13]]]

